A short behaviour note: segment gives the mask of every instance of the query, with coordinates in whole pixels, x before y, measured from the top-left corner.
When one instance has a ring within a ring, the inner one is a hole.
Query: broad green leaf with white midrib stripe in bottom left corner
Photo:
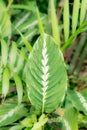
[[[24,105],[17,105],[17,102],[5,102],[0,105],[0,127],[12,124],[18,119],[27,115]]]

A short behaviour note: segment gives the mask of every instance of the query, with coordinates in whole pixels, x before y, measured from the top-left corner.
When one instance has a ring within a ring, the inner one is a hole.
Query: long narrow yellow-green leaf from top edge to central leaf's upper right
[[[50,15],[51,15],[53,36],[58,46],[60,46],[59,26],[54,6],[54,0],[49,0],[49,4],[50,4]]]

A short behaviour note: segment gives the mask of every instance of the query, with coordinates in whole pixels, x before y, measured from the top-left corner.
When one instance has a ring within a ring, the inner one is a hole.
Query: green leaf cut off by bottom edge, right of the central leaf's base
[[[63,116],[63,130],[78,130],[78,112],[74,108],[67,108]]]

